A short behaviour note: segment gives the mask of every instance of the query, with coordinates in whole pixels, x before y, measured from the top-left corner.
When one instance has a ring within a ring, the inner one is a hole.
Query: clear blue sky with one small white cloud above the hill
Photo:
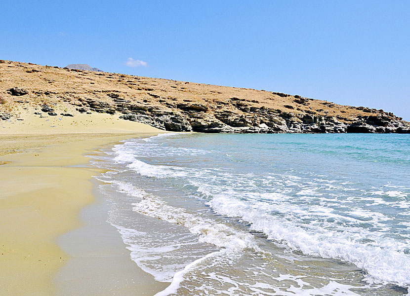
[[[410,1],[3,0],[0,7],[0,59],[265,89],[410,120]]]

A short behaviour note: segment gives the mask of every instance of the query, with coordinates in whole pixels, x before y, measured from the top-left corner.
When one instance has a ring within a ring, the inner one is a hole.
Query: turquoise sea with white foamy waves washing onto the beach
[[[410,295],[408,135],[166,133],[90,157],[157,296]]]

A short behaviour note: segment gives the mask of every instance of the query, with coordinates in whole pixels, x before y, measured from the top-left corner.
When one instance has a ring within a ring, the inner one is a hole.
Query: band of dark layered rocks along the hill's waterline
[[[147,103],[132,104],[118,94],[108,94],[113,102],[93,99],[80,100],[90,111],[121,112],[120,118],[149,124],[167,131],[201,133],[410,133],[410,123],[380,111],[377,115],[354,119],[340,116],[295,113],[265,106],[249,105],[245,100],[232,98],[232,109],[212,110],[197,103],[164,102],[163,106]],[[309,100],[298,98],[301,103]],[[225,104],[221,104],[225,105]],[[236,109],[236,111],[235,111]],[[78,109],[85,112],[85,108]]]

